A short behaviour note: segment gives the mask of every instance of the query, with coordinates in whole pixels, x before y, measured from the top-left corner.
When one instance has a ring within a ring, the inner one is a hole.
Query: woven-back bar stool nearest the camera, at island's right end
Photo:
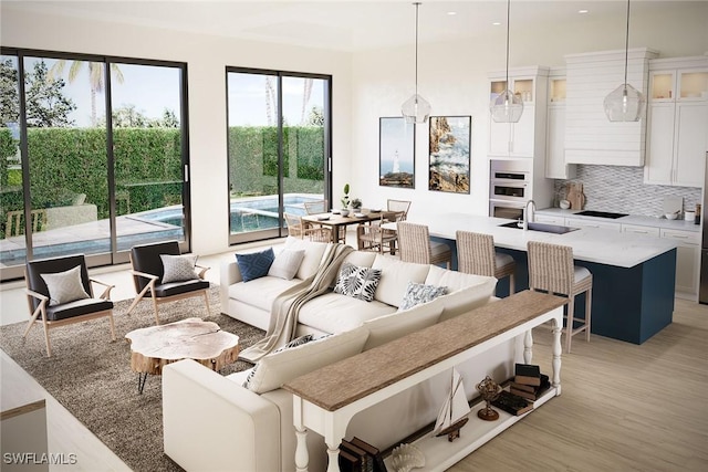
[[[571,339],[585,332],[590,343],[591,302],[593,295],[593,274],[586,269],[573,264],[573,249],[568,245],[529,241],[529,289],[563,295],[569,298],[565,314],[565,352],[571,352]],[[575,295],[585,293],[585,317],[577,318]],[[575,325],[579,324],[577,327]]]

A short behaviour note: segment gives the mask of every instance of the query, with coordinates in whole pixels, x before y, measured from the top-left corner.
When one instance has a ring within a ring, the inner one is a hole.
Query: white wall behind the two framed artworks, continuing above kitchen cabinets
[[[629,48],[647,46],[663,57],[708,52],[708,2],[656,2],[653,7],[632,17]],[[565,54],[624,50],[625,21],[624,14],[612,23],[579,15],[573,24],[527,25],[512,18],[510,66],[562,66]],[[378,117],[399,116],[400,104],[414,93],[414,48],[354,55],[351,183],[354,196],[365,196],[364,206],[403,198],[414,201],[414,216],[440,209],[488,213],[487,75],[503,71],[504,49],[506,29],[500,27],[493,38],[420,44],[418,51],[418,92],[430,102],[433,115],[472,116],[469,196],[428,191],[427,124],[417,125],[416,130],[416,188],[378,186]],[[617,85],[622,81],[618,76]]]

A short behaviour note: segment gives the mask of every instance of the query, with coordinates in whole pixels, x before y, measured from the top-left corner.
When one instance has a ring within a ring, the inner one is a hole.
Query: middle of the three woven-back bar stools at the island
[[[497,279],[509,276],[509,294],[514,293],[517,263],[511,255],[494,251],[494,238],[491,234],[458,230],[455,240],[459,272]]]

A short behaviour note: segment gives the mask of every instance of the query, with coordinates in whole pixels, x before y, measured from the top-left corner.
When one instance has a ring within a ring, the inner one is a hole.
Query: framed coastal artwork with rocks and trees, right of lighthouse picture
[[[471,116],[430,116],[428,189],[469,193]]]

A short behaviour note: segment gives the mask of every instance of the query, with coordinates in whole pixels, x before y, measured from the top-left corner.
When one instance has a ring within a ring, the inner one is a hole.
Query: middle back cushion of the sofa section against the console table
[[[366,339],[364,350],[433,326],[440,318],[440,314],[442,314],[442,303],[439,300],[434,300],[409,310],[366,321],[364,327],[368,329],[368,339]]]

